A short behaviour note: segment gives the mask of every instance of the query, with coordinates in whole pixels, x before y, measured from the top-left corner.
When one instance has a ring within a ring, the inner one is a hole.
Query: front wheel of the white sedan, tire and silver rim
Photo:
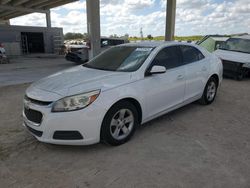
[[[133,104],[127,101],[115,104],[104,117],[101,140],[112,146],[124,144],[135,133],[138,120],[138,112]]]

